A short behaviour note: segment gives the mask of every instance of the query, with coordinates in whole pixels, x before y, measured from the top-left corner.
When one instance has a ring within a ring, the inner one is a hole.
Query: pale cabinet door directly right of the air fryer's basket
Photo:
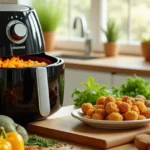
[[[73,99],[71,97],[75,88],[83,89],[81,82],[87,80],[89,76],[94,77],[95,81],[100,85],[111,86],[111,73],[98,72],[80,69],[65,69],[65,91],[64,91],[64,103],[63,105],[72,105]]]

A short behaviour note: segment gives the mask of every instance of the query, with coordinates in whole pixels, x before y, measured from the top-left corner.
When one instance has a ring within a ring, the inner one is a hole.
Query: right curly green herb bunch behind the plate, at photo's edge
[[[117,97],[144,95],[146,99],[150,99],[150,82],[136,75],[133,78],[128,77],[119,88],[112,87],[112,93]]]

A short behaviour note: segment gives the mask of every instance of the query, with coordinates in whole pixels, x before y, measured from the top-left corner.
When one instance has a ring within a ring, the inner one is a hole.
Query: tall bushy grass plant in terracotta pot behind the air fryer
[[[32,0],[44,35],[46,51],[55,48],[55,31],[63,18],[61,0]]]

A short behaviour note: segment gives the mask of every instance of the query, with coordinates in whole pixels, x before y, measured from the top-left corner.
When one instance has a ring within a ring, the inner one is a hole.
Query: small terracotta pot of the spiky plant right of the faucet
[[[116,56],[119,53],[119,45],[117,43],[104,43],[104,52],[106,56]]]

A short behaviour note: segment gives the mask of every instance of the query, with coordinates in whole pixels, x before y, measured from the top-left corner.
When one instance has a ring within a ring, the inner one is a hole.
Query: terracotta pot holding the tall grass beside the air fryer
[[[43,31],[46,52],[53,51],[55,49],[55,32]]]

